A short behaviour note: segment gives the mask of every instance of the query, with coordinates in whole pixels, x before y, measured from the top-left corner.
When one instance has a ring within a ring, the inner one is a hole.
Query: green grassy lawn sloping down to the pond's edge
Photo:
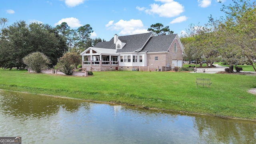
[[[211,88],[196,88],[211,78]],[[256,119],[256,76],[184,72],[94,72],[92,77],[0,70],[0,89],[148,108]]]

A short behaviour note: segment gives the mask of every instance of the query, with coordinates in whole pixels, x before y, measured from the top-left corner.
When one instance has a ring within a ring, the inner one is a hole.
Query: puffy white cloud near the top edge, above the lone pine
[[[150,4],[150,9],[136,7],[138,10],[145,10],[147,14],[158,14],[160,17],[175,17],[184,12],[184,6],[174,0],[155,0],[163,4]]]

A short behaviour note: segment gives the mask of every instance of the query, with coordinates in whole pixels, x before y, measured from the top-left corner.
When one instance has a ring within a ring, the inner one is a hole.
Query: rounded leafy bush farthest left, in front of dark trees
[[[40,73],[41,69],[48,68],[48,64],[50,64],[50,59],[42,52],[33,52],[22,60],[24,64],[37,73]]]

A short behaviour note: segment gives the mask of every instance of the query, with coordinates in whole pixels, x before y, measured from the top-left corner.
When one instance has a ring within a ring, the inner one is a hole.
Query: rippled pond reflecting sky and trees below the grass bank
[[[0,91],[0,137],[22,144],[252,144],[256,122]]]

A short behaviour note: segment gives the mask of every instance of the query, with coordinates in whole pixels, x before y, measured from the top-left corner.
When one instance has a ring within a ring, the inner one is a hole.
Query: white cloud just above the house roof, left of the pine
[[[119,20],[114,24],[114,21],[110,22],[112,22],[112,24],[106,24],[106,27],[108,27],[110,30],[120,31],[120,35],[142,34],[148,32],[148,30],[144,28],[144,25],[141,20]]]

